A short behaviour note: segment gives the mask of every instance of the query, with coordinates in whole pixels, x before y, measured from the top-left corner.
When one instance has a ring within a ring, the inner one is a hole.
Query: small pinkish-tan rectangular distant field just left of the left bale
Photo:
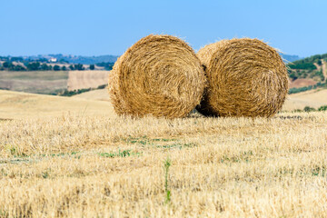
[[[109,71],[70,71],[67,89],[74,91],[85,88],[97,88],[108,83]]]

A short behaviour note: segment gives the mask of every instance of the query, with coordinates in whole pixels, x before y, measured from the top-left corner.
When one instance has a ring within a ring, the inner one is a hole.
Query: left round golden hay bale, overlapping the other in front
[[[148,35],[117,60],[108,88],[117,114],[175,118],[200,104],[204,84],[189,45],[171,35]]]

